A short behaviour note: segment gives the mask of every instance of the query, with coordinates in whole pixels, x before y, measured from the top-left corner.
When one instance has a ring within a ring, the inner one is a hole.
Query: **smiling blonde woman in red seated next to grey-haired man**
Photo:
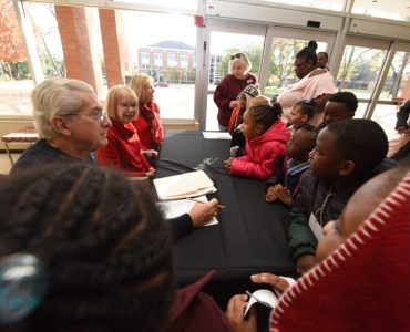
[[[142,154],[142,146],[132,121],[139,116],[139,98],[126,86],[110,89],[105,110],[112,122],[109,143],[96,152],[100,165],[115,168],[130,177],[153,177],[154,168]]]

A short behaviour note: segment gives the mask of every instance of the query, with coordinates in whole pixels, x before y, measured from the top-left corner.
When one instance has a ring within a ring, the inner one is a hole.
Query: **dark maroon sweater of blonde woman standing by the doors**
[[[223,126],[229,124],[233,108],[229,107],[232,101],[236,101],[239,93],[249,84],[257,81],[254,74],[248,73],[245,80],[235,79],[234,75],[226,75],[216,86],[214,102],[218,106],[218,123]]]

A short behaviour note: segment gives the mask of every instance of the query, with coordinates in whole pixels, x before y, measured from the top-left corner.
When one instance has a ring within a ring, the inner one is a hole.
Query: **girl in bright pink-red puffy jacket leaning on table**
[[[290,132],[280,120],[279,103],[258,104],[244,114],[243,134],[246,156],[229,158],[225,167],[230,175],[267,180],[275,172],[275,162],[285,155]]]

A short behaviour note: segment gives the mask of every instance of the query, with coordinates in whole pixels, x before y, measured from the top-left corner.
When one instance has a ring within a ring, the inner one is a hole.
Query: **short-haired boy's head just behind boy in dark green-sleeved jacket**
[[[358,104],[356,95],[351,92],[335,93],[326,103],[324,122],[317,127],[317,132],[336,121],[355,117]]]

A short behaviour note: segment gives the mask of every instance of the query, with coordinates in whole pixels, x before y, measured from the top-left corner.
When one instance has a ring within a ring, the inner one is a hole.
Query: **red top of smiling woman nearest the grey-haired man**
[[[141,153],[141,143],[132,123],[122,124],[110,117],[112,127],[107,129],[109,143],[96,152],[99,164],[115,168],[126,176],[145,176],[151,168]]]

